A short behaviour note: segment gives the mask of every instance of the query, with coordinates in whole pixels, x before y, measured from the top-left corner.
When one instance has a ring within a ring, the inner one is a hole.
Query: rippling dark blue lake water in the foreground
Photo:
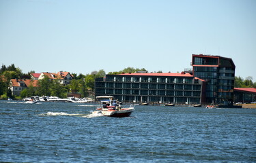
[[[256,109],[0,101],[0,162],[256,162]]]

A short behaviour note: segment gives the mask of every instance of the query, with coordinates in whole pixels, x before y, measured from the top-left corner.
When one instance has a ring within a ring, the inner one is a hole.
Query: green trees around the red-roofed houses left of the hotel
[[[128,67],[122,71],[109,72],[108,74],[118,74],[118,73],[135,73],[136,71],[146,71],[145,69],[134,69]],[[65,98],[68,92],[76,93],[79,92],[82,97],[93,96],[94,94],[94,81],[98,77],[104,77],[106,75],[104,70],[92,71],[89,74],[79,75],[72,73],[73,79],[70,84],[63,86],[57,79],[51,80],[48,76],[44,79],[38,80],[38,86],[33,87],[28,86],[20,92],[20,96],[12,96],[12,91],[10,90],[11,79],[31,79],[31,73],[35,71],[30,71],[28,73],[23,73],[20,68],[15,67],[14,64],[6,67],[2,65],[0,69],[0,96],[1,98],[25,98],[27,96],[59,96],[60,98]]]

